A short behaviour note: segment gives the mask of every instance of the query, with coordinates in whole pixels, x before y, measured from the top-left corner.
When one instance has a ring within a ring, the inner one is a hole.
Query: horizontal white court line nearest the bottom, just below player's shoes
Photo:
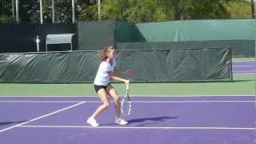
[[[166,126],[166,127],[154,127],[154,126],[18,126],[27,128],[94,128],[94,129],[170,129],[170,130],[256,130],[252,127],[184,127],[184,126]]]

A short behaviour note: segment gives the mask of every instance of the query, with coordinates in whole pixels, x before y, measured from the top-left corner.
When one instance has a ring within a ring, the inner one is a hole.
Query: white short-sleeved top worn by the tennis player
[[[110,62],[103,61],[98,67],[98,72],[94,78],[94,85],[107,86],[110,83],[110,75],[107,72],[114,72],[114,67],[116,66],[115,60],[113,60],[112,65]]]

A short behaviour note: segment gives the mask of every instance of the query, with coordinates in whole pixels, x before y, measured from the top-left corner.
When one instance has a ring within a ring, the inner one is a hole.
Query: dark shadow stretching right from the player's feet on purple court
[[[158,123],[158,122],[166,122],[168,119],[174,119],[174,118],[178,118],[178,117],[136,118],[136,119],[130,119],[128,122],[129,122],[129,124],[132,124],[132,123],[140,123],[140,122],[150,121],[150,122],[142,123],[141,125],[138,125],[138,126],[146,126],[146,125],[154,124],[154,123]]]

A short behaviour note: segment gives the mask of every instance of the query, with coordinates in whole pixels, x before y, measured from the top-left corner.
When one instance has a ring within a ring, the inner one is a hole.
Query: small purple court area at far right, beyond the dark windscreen
[[[256,73],[256,61],[232,62],[234,74]]]

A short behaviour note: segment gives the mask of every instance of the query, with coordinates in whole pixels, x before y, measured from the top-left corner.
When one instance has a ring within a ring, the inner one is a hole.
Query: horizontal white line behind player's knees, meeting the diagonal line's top
[[[7,102],[7,103],[11,103],[11,102],[31,102],[31,103],[44,103],[44,102],[41,102],[41,101],[0,101],[0,102]],[[53,103],[73,103],[74,101],[55,101]],[[82,101],[80,101],[82,102]],[[110,101],[110,102],[113,102],[113,101]],[[138,101],[138,100],[131,100],[131,102],[133,103],[211,103],[211,102],[256,102],[255,101],[204,101],[204,100],[199,100],[199,101]],[[101,101],[86,101],[86,103],[101,103]]]

